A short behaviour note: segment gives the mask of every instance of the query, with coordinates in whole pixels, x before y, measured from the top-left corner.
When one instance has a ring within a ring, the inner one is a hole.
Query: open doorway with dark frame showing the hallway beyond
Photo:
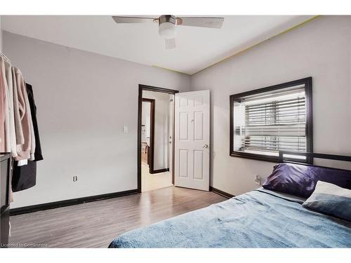
[[[175,93],[178,90],[139,85],[139,192],[174,184]]]

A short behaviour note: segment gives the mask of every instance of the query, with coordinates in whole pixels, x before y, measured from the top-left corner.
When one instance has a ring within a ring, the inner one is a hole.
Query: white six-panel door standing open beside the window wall
[[[210,180],[210,91],[177,93],[174,181],[208,191]]]

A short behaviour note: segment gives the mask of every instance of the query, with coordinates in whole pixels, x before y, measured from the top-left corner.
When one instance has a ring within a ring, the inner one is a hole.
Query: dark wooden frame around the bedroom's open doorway
[[[158,88],[154,86],[147,86],[147,85],[142,85],[139,84],[139,97],[138,97],[138,193],[141,193],[141,114],[142,114],[142,107],[143,107],[143,90],[150,90],[150,91],[155,91],[159,93],[168,93],[168,94],[176,94],[179,92],[179,90],[171,90],[168,88]],[[174,112],[174,109],[173,109]],[[151,133],[151,130],[150,130]],[[173,118],[173,134],[174,134],[174,118]],[[153,136],[151,136],[153,137]],[[172,137],[172,183],[174,184],[174,136]],[[152,142],[153,144],[154,142]],[[151,144],[151,140],[150,140]],[[153,147],[152,147],[153,148]],[[152,152],[153,155],[153,152]],[[153,166],[153,163],[152,163]],[[153,167],[152,167],[153,169]],[[158,172],[159,173],[159,172]]]

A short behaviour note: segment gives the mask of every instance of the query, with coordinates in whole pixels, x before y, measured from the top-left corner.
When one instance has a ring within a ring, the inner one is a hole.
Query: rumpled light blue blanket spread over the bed
[[[251,191],[128,231],[110,248],[351,248],[351,222],[300,203],[272,191]]]

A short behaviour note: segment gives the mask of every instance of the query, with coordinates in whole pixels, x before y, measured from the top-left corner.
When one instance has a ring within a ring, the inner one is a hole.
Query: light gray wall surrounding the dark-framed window
[[[229,156],[229,96],[307,76],[313,78],[314,151],[351,155],[350,50],[351,17],[319,17],[194,74],[192,90],[209,89],[212,96],[211,185],[234,195],[251,191],[254,175],[266,177],[274,166]]]

